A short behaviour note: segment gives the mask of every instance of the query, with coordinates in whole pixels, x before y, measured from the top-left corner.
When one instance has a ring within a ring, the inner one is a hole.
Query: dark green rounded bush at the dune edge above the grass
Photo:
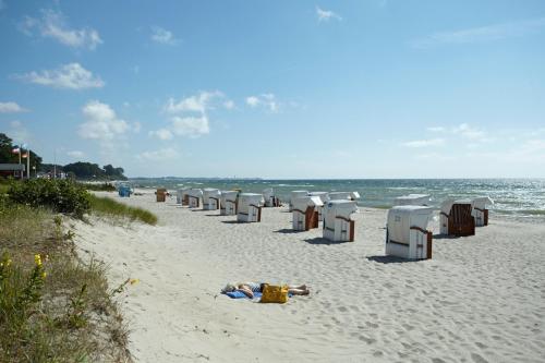
[[[90,195],[73,181],[33,179],[13,182],[8,191],[11,202],[31,207],[48,207],[81,218],[90,210]]]

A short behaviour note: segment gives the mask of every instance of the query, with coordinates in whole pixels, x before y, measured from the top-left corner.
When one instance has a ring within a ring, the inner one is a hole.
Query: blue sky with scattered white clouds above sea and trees
[[[542,0],[0,0],[0,132],[45,162],[545,177]]]

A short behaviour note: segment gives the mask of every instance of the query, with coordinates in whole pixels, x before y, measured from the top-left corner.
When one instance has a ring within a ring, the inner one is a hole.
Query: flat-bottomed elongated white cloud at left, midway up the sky
[[[100,88],[105,85],[99,76],[94,76],[80,63],[64,64],[55,70],[15,74],[14,77],[53,88],[85,89]]]

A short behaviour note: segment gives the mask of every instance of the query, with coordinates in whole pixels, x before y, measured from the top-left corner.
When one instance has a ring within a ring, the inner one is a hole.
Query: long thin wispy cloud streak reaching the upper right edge
[[[436,33],[409,44],[414,48],[429,48],[444,44],[471,44],[520,37],[540,33],[545,28],[545,17],[494,24],[468,29]]]

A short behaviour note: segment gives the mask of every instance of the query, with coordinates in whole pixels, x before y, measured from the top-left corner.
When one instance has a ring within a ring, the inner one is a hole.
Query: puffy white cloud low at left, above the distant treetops
[[[111,142],[122,136],[130,130],[129,123],[118,119],[113,109],[98,100],[88,101],[83,108],[82,113],[86,121],[80,125],[80,136],[83,138],[99,140],[101,142]]]

